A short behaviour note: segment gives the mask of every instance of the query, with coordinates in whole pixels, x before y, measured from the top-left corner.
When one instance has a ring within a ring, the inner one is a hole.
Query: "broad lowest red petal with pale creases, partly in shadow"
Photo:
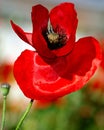
[[[36,52],[25,50],[14,64],[14,75],[27,97],[52,100],[82,88],[100,59],[98,42],[92,37],[82,38],[72,54],[47,61],[50,64]]]

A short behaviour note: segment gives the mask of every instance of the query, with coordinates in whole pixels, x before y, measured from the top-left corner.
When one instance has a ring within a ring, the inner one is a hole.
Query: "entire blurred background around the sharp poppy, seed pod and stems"
[[[11,84],[7,99],[5,130],[14,130],[30,99],[13,77],[13,63],[25,44],[13,32],[10,20],[32,32],[31,7],[43,4],[49,10],[64,0],[0,0],[0,83]],[[104,0],[66,0],[78,14],[77,39],[94,36],[104,50]],[[3,97],[0,93],[0,122]],[[21,130],[104,130],[104,63],[83,89],[57,101],[35,101]]]

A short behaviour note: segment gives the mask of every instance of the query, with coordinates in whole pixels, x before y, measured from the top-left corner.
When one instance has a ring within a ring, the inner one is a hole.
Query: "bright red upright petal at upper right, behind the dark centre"
[[[50,12],[50,21],[54,28],[61,28],[65,31],[68,38],[71,34],[75,34],[77,28],[77,13],[72,3],[62,3]]]

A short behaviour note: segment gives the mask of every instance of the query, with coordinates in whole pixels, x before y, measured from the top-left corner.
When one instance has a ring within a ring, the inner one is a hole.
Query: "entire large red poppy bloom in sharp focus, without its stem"
[[[25,96],[54,100],[82,88],[97,69],[101,52],[93,37],[75,42],[74,4],[62,3],[50,13],[36,5],[31,16],[32,33],[11,21],[16,34],[36,49],[23,51],[14,63],[14,76]]]

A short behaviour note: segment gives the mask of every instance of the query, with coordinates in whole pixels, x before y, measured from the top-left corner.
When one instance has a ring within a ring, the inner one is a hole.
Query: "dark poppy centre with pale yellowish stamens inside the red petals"
[[[48,29],[45,32],[44,38],[47,41],[47,45],[50,50],[63,47],[67,40],[66,34],[63,33],[62,30],[59,31],[57,28],[54,31],[51,25],[48,25]]]

